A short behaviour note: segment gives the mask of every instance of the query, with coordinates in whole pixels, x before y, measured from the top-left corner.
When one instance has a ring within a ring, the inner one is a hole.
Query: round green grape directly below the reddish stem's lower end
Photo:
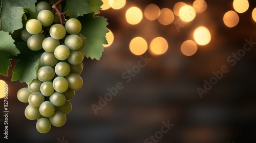
[[[66,35],[66,29],[60,24],[54,24],[50,28],[50,35],[52,38],[60,40]]]

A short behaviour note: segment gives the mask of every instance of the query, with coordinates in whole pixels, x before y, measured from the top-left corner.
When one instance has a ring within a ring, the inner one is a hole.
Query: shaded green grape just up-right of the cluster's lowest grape
[[[64,113],[60,111],[55,111],[52,116],[49,117],[51,124],[55,127],[61,127],[65,125],[67,117]]]

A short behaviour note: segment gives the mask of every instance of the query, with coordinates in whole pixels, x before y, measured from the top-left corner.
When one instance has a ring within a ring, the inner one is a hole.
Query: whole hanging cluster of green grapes
[[[17,99],[29,103],[25,116],[37,120],[36,129],[47,133],[51,126],[61,127],[72,110],[70,100],[82,86],[79,76],[83,69],[84,53],[81,49],[86,38],[80,34],[81,23],[76,18],[67,19],[65,25],[54,23],[51,6],[46,2],[36,5],[37,19],[29,19],[22,38],[30,50],[44,49],[37,78],[17,92]],[[49,28],[49,35],[42,29]]]

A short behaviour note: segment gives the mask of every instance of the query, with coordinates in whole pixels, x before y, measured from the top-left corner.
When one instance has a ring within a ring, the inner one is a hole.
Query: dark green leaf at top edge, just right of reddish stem
[[[70,18],[92,12],[88,0],[67,0],[64,11]]]

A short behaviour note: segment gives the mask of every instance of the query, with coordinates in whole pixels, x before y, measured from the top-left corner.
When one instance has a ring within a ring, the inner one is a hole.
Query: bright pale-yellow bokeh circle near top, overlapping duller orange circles
[[[185,22],[192,21],[196,17],[196,11],[192,6],[183,6],[179,11],[180,19]]]

